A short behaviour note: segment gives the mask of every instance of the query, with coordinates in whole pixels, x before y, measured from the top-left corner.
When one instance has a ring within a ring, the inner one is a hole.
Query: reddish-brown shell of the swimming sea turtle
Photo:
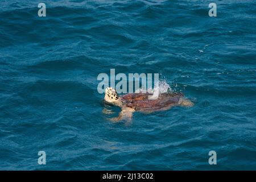
[[[160,94],[156,100],[149,100],[150,93],[129,93],[122,96],[123,105],[132,107],[138,111],[158,111],[167,110],[177,105],[179,99],[184,95],[182,93],[164,93]]]

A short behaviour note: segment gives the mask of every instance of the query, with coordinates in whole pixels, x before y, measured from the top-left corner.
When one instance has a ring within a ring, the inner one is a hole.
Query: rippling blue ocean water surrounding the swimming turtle
[[[255,1],[43,2],[0,1],[0,169],[256,170]],[[195,106],[113,123],[111,68],[160,73]]]

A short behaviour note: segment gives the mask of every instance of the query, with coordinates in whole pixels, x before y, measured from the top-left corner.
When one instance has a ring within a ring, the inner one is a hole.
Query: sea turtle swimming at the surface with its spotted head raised
[[[156,99],[149,99],[151,93],[129,93],[118,97],[117,92],[112,87],[105,89],[104,100],[122,108],[118,117],[112,118],[112,121],[122,119],[130,120],[134,111],[151,113],[152,111],[167,110],[172,106],[193,106],[193,102],[184,97],[182,93],[163,93]]]

